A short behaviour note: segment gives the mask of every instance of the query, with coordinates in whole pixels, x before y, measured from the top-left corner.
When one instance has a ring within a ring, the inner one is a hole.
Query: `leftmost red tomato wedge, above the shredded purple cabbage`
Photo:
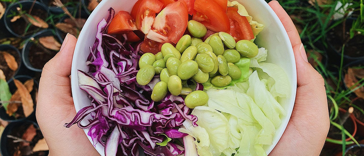
[[[114,19],[110,22],[108,34],[121,33],[123,31],[137,30],[135,27],[135,22],[126,11],[119,11],[118,14],[114,16]]]

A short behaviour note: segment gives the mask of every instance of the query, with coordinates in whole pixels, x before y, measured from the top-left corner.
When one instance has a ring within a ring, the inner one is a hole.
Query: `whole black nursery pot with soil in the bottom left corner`
[[[35,136],[35,139],[32,140],[31,145],[34,146],[35,143],[33,143],[33,141],[38,141],[39,139],[43,138],[43,135],[40,132],[39,126],[37,123],[35,123],[34,121],[30,121],[30,120],[24,120],[24,121],[18,121],[18,122],[13,122],[13,123],[9,123],[4,131],[3,134],[1,135],[1,146],[0,146],[0,151],[1,151],[1,156],[13,156],[14,151],[15,151],[15,145],[19,144],[19,143],[13,143],[12,139],[8,138],[7,135],[12,135],[12,136],[16,136],[16,137],[20,137],[24,134],[26,128],[29,127],[29,125],[33,124],[34,127],[37,129],[37,134]],[[40,152],[36,152],[38,155],[48,155],[49,151],[40,151]]]

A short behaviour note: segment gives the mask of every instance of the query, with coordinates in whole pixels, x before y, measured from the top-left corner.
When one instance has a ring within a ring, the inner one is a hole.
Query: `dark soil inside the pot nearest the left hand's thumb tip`
[[[46,49],[41,44],[33,44],[29,49],[29,62],[37,69],[42,69],[44,65],[51,60],[57,51]]]

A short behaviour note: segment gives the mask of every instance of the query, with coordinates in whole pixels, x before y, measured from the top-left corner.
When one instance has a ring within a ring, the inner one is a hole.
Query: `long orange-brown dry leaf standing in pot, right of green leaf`
[[[14,79],[14,83],[17,90],[20,93],[21,104],[23,105],[24,115],[25,117],[28,117],[34,111],[32,96],[28,92],[28,89],[19,80]]]

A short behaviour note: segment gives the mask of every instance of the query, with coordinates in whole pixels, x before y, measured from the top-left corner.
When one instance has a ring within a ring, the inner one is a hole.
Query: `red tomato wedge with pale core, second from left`
[[[163,3],[158,0],[142,0],[140,5],[134,5],[134,8],[135,7],[139,7],[135,19],[135,25],[139,30],[147,34],[153,24],[155,14],[161,11]]]

